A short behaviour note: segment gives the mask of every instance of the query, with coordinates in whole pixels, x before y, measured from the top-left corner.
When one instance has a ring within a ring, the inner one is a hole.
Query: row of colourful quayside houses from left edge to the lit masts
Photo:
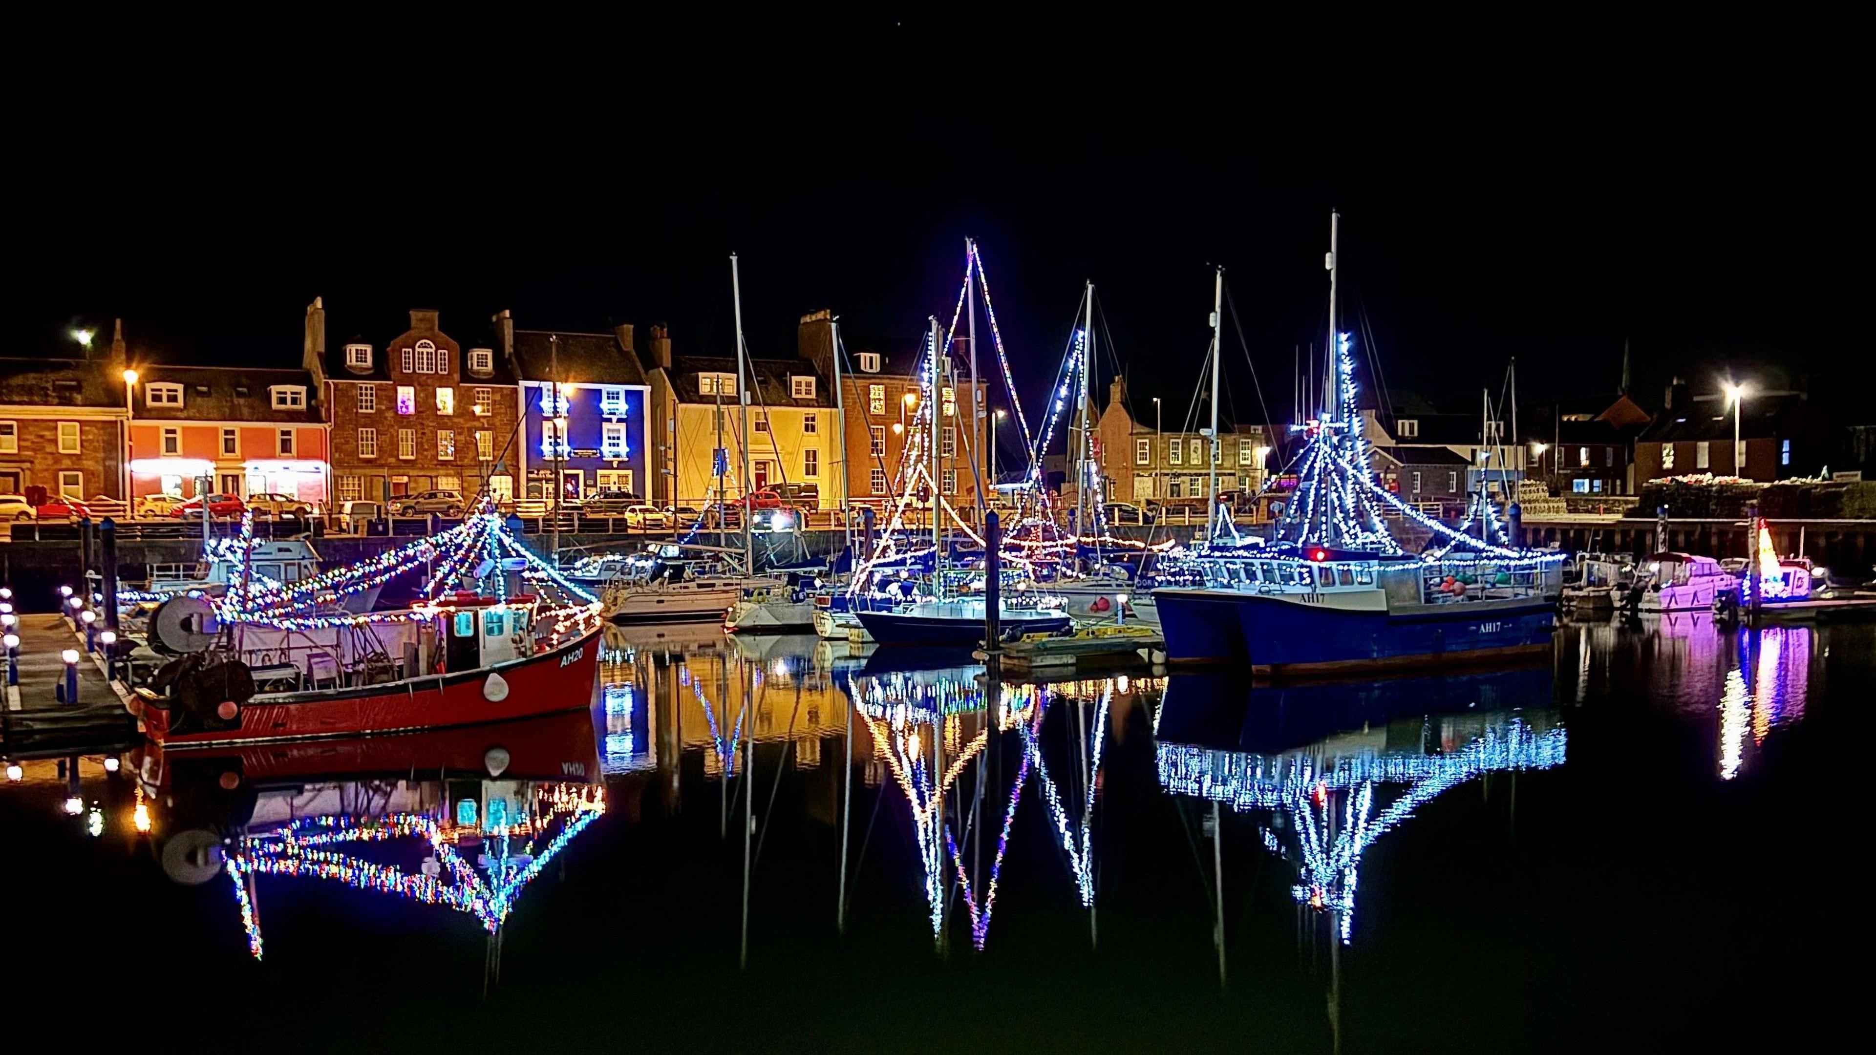
[[[328,342],[313,300],[296,366],[173,362],[141,351],[122,321],[96,353],[86,342],[69,359],[0,359],[0,492],[135,501],[206,486],[321,507],[428,490],[501,501],[627,492],[702,507],[719,488],[730,501],[786,488],[833,509],[887,501],[908,424],[929,413],[914,353],[861,345],[835,392],[829,312],[801,319],[795,357],[750,360],[741,377],[734,357],[675,353],[662,325],[643,347],[632,325],[525,330],[508,312],[477,334],[465,347],[437,312],[413,310],[390,340]],[[940,479],[966,505],[983,479],[972,466],[985,454],[987,385],[972,389],[957,366],[940,389]]]

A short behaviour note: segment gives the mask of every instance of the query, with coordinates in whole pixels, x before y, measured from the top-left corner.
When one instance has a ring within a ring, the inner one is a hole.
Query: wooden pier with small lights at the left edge
[[[0,743],[9,758],[124,747],[135,740],[137,719],[124,710],[101,663],[84,650],[84,635],[73,633],[64,616],[21,616],[13,633],[19,635],[19,685],[6,687],[6,710],[0,711]],[[66,683],[66,650],[79,653],[77,704],[58,698]]]

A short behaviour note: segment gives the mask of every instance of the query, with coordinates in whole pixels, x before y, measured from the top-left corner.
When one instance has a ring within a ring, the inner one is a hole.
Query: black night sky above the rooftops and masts
[[[1041,69],[1011,77],[1009,58],[934,58],[923,28],[848,32],[762,64],[653,62],[634,38],[433,77],[405,75],[396,41],[313,73],[126,51],[109,88],[24,120],[21,156],[51,163],[24,173],[32,267],[6,338],[45,351],[73,319],[122,315],[133,349],[291,364],[321,295],[334,342],[383,345],[430,306],[480,344],[512,308],[523,329],[668,321],[681,353],[728,353],[735,250],[752,351],[790,355],[816,308],[855,340],[915,340],[949,315],[970,235],[1026,400],[1094,280],[1103,383],[1114,355],[1171,426],[1221,263],[1287,419],[1293,349],[1323,340],[1336,206],[1345,304],[1398,400],[1471,411],[1510,357],[1527,400],[1608,392],[1625,340],[1645,404],[1673,372],[1820,394],[1876,379],[1840,310],[1865,210],[1816,66],[1720,77],[1640,45],[1476,69],[1351,56],[1326,86],[1264,69],[1266,41],[1204,81],[1172,49],[1030,54]],[[86,148],[62,154],[73,135]],[[1225,362],[1227,415],[1261,417],[1234,332]]]

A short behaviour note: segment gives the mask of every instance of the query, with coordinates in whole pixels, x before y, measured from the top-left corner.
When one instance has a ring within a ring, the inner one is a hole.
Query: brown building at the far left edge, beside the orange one
[[[0,492],[124,497],[124,338],[79,359],[0,359]]]

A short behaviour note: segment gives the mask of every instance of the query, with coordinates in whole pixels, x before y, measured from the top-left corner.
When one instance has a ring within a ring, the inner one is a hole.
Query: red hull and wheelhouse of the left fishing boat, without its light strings
[[[204,680],[216,687],[231,683],[221,670],[242,665],[229,663],[199,670],[191,696],[137,689],[129,708],[150,740],[169,749],[409,732],[589,708],[598,685],[598,629],[533,644],[537,627],[522,623],[527,616],[531,608],[461,599],[430,621],[407,623],[415,663],[409,668],[420,674],[396,681],[234,700],[204,687]],[[529,655],[529,644],[544,651]],[[250,691],[261,676],[253,670]],[[233,681],[240,678],[248,678],[248,668]]]

